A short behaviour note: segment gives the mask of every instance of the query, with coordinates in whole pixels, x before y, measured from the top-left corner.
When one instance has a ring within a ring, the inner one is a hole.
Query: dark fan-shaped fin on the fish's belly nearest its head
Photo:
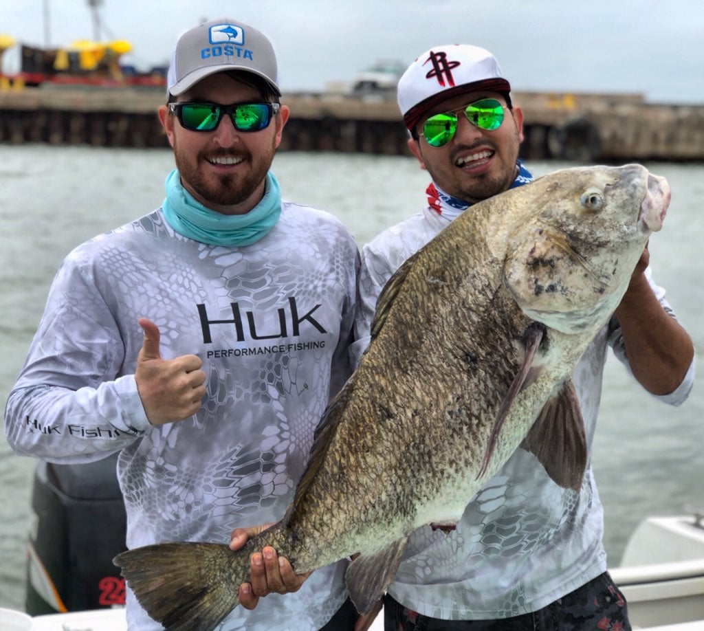
[[[538,458],[555,484],[579,490],[586,469],[586,432],[571,380],[546,403],[520,446]]]

